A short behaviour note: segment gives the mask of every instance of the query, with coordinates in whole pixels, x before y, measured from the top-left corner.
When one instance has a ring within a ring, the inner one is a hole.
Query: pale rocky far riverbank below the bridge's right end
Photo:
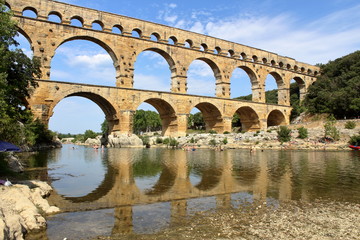
[[[347,120],[337,121],[336,128],[339,130],[340,139],[338,141],[324,141],[324,121],[312,121],[300,124],[291,124],[291,140],[280,142],[278,140],[278,127],[270,127],[266,131],[228,133],[228,134],[209,134],[192,133],[184,137],[175,138],[178,146],[186,149],[190,148],[216,148],[219,149],[251,149],[252,151],[262,149],[299,149],[299,150],[351,150],[349,146],[350,137],[360,133],[360,120],[352,120],[356,123],[354,129],[346,129]],[[298,128],[305,127],[308,137],[300,139]],[[167,137],[158,135],[149,136],[151,147],[164,147]]]

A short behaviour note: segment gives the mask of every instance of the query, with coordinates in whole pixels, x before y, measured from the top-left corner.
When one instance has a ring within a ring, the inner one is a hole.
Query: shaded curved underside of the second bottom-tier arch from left
[[[172,136],[177,133],[178,123],[175,108],[167,101],[160,98],[149,98],[143,102],[152,105],[159,113],[162,125],[162,135]]]

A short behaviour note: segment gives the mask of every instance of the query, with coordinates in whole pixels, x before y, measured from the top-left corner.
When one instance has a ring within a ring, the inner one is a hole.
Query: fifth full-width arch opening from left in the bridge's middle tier
[[[281,101],[281,95],[279,95],[279,89],[284,86],[283,79],[276,72],[271,72],[267,75],[265,80],[265,102],[272,104],[279,104]]]

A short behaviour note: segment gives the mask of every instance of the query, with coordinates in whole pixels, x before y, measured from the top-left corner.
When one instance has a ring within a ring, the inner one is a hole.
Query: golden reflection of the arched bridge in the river
[[[65,212],[112,215],[108,223],[112,234],[143,232],[146,218],[159,228],[163,223],[158,218],[176,224],[196,211],[228,209],[245,202],[337,198],[338,191],[346,193],[347,187],[334,184],[327,175],[329,169],[360,183],[359,174],[350,176],[344,171],[353,161],[347,152],[106,149],[94,154],[107,167],[101,184],[78,197],[61,195],[55,189],[50,202]],[[349,191],[360,190],[359,185],[348,186]]]

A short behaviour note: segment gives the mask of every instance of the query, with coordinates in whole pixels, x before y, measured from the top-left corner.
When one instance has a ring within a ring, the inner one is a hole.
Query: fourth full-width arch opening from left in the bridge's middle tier
[[[240,100],[253,100],[252,89],[258,86],[256,74],[248,67],[238,67],[231,75],[231,97]]]

